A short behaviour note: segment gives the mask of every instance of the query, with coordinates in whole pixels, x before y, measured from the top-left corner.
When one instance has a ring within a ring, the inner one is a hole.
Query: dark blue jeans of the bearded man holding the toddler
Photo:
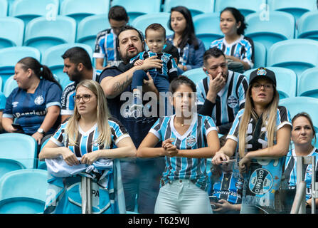
[[[164,157],[120,162],[126,210],[133,212],[136,206],[142,214],[153,214],[159,192],[160,178],[164,171]]]

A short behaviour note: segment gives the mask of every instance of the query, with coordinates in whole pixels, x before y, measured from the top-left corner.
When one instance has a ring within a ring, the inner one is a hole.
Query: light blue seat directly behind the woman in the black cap
[[[277,91],[280,99],[294,98],[297,91],[297,76],[294,71],[282,67],[267,67],[269,70],[275,72]],[[257,68],[245,71],[243,74],[246,78],[250,78],[250,73]]]

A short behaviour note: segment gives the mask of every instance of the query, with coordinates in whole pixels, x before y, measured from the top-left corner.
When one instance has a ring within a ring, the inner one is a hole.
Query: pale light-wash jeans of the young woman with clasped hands
[[[174,180],[160,188],[155,214],[213,214],[208,192],[191,180]]]

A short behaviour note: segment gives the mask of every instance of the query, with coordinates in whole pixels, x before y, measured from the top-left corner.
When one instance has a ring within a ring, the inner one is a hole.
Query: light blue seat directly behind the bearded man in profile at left
[[[57,76],[58,81],[60,82],[60,86],[62,86],[63,89],[72,81],[70,81],[66,73],[63,73],[64,61],[61,56],[69,48],[73,48],[75,46],[84,48],[86,51],[88,51],[90,56],[92,56],[92,48],[83,43],[64,43],[53,46],[51,48],[48,48],[42,56],[42,64],[48,66],[48,68],[51,69],[52,73]]]

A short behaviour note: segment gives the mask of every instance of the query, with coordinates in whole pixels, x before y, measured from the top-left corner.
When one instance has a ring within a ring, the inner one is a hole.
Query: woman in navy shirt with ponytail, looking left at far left
[[[13,123],[20,125],[19,133],[32,135],[38,144],[44,135],[52,134],[60,125],[60,96],[62,88],[47,66],[35,58],[22,58],[14,68],[18,83],[3,113],[2,125],[8,133],[18,132]]]

